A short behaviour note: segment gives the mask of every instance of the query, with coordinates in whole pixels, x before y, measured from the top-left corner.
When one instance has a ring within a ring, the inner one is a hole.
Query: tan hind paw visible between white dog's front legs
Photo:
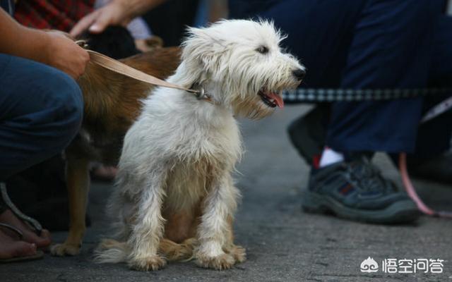
[[[160,240],[159,253],[164,256],[168,262],[191,259],[196,245],[196,238],[189,238],[178,244],[172,240]]]

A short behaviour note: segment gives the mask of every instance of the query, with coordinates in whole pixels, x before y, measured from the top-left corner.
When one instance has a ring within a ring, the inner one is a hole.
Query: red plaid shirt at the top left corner
[[[69,32],[93,11],[95,0],[19,0],[14,18],[28,27]]]

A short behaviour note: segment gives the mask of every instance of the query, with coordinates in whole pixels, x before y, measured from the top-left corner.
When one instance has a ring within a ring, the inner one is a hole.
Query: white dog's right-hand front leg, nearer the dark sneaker
[[[237,208],[239,192],[232,184],[232,178],[222,176],[209,190],[203,203],[203,215],[198,226],[199,245],[195,250],[196,264],[212,269],[230,269],[236,259],[227,254],[223,247],[230,236],[228,218]]]

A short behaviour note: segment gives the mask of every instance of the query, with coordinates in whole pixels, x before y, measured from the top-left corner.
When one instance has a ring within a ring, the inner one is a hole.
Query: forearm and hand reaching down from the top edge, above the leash
[[[72,28],[71,35],[76,37],[84,30],[100,33],[109,25],[124,25],[133,18],[152,10],[167,0],[112,0],[106,6],[89,13]]]

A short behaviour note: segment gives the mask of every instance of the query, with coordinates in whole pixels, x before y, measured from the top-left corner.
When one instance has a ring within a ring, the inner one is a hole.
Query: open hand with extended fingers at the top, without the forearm
[[[89,13],[74,25],[70,32],[71,36],[77,37],[85,30],[100,33],[109,25],[126,26],[135,16],[126,3],[125,1],[112,1],[106,6]]]

